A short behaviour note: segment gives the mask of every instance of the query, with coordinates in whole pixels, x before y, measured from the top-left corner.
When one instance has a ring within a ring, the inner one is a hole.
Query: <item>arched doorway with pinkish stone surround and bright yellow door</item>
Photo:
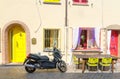
[[[7,23],[2,29],[2,64],[22,64],[30,53],[30,31],[18,20]]]

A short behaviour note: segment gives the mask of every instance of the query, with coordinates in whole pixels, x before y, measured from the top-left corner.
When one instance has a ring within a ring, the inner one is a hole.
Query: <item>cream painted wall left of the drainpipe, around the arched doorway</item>
[[[37,39],[36,45],[30,43],[31,53],[43,53],[43,29],[45,28],[60,29],[61,50],[64,51],[64,4],[43,4],[42,0],[41,4],[39,0],[1,0],[0,10],[1,30],[13,20],[21,21],[28,26],[30,40]],[[44,52],[44,54],[48,53]]]

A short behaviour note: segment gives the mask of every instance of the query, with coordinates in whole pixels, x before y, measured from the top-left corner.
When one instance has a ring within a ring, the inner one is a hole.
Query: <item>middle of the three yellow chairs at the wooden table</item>
[[[98,58],[88,58],[87,67],[89,71],[98,70]],[[95,68],[96,67],[96,68]]]

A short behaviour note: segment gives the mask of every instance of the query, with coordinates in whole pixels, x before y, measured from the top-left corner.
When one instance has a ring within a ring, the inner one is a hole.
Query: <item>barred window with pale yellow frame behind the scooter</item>
[[[59,29],[45,29],[44,30],[44,50],[50,51],[53,49],[53,46],[59,48],[60,44],[60,35]]]

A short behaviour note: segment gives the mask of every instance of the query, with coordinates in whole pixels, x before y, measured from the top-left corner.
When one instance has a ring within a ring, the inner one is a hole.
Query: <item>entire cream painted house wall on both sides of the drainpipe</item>
[[[68,56],[72,48],[73,27],[101,27],[111,24],[120,25],[120,0],[88,0],[88,6],[73,5],[68,0]],[[34,37],[37,44],[31,44],[31,52],[43,52],[43,29],[58,28],[61,33],[61,50],[65,53],[65,0],[61,4],[44,4],[43,0],[0,0],[0,28],[13,20],[25,23],[30,30],[30,40]],[[103,33],[104,35],[104,33]],[[105,49],[104,39],[101,46]],[[44,52],[44,54],[47,54]],[[0,54],[0,61],[2,55]],[[69,61],[69,60],[68,60]]]

